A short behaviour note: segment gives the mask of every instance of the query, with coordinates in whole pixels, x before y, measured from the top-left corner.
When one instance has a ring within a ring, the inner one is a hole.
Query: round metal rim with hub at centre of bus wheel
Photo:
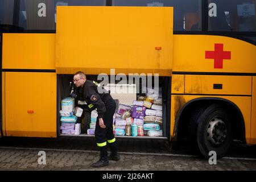
[[[226,139],[226,124],[220,117],[210,120],[207,127],[207,139],[213,146],[220,146]]]

